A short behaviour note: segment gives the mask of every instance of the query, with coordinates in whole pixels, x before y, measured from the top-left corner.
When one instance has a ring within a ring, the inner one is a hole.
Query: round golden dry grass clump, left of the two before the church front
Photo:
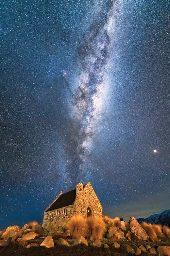
[[[67,224],[67,229],[69,229],[70,235],[73,238],[77,238],[80,235],[85,237],[87,224],[82,215],[74,215],[71,217],[69,223]]]

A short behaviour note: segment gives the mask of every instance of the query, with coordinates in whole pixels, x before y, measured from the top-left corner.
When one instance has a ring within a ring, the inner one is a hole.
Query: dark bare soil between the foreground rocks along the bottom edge
[[[28,243],[37,243],[40,244],[44,239],[34,239],[29,240]],[[71,245],[75,241],[75,239],[66,239],[68,243]],[[115,249],[112,244],[113,241],[110,241],[106,238],[101,240],[102,247],[94,247],[92,245],[89,245],[88,247],[86,245],[77,245],[77,246],[71,246],[71,247],[65,247],[65,246],[59,246],[56,244],[56,241],[54,240],[55,247],[54,248],[45,248],[42,247],[33,247],[33,248],[21,248],[18,247],[15,243],[11,243],[9,246],[0,248],[0,255],[1,256],[107,256],[107,255],[113,255],[113,256],[130,256],[132,254],[128,254],[125,251],[124,244],[135,244],[136,246],[139,245],[151,245],[152,247],[157,246],[170,246],[170,239],[169,238],[162,238],[161,242],[148,242],[143,240],[119,240],[118,243],[121,245],[120,248]],[[91,241],[88,240],[88,243],[90,244]],[[104,248],[104,245],[108,244],[109,248]],[[147,256],[150,255],[148,253],[142,252],[141,256]]]

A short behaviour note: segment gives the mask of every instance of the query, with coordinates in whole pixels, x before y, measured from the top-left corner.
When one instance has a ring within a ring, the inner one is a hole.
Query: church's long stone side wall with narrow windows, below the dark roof
[[[75,215],[74,205],[68,205],[59,209],[44,213],[43,228],[48,234],[53,231],[62,231],[61,226],[69,222],[69,219]]]

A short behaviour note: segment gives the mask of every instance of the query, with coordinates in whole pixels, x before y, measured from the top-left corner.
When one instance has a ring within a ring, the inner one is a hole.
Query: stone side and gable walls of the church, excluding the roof
[[[54,201],[61,195],[62,192]],[[50,206],[52,204],[50,204]],[[91,217],[102,217],[102,205],[90,182],[84,186],[82,183],[77,184],[73,204],[49,211],[50,206],[45,210],[43,220],[43,228],[47,233],[60,230],[60,227],[68,223],[73,215],[81,214],[84,218],[87,218],[88,210],[90,210]]]

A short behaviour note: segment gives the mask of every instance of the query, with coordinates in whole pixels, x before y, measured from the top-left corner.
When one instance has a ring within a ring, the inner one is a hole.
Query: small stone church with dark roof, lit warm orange
[[[54,226],[62,226],[73,215],[81,214],[84,218],[102,217],[103,207],[90,182],[77,184],[76,188],[61,193],[44,211],[43,228],[49,232]]]

